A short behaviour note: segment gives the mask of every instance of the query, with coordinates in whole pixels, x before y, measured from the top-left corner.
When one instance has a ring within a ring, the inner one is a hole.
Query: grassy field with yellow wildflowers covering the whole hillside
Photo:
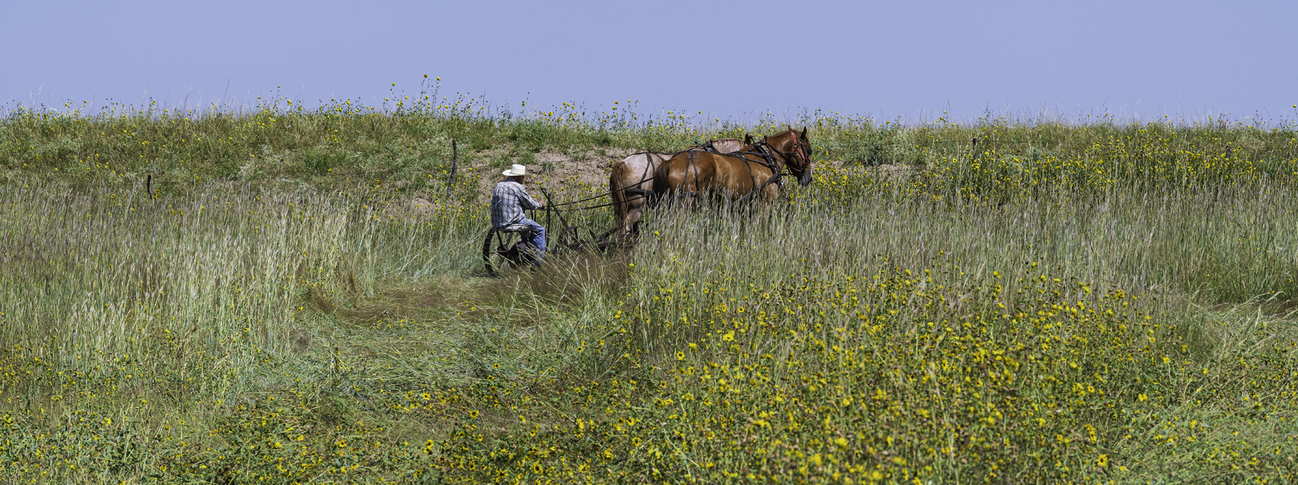
[[[783,124],[388,101],[10,110],[3,481],[1298,480],[1290,126],[811,113],[787,201],[488,279],[450,140]]]

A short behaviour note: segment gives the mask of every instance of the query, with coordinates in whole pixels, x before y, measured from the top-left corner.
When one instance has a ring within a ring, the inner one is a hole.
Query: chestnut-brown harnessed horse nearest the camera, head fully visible
[[[654,197],[678,195],[693,197],[713,195],[731,201],[762,198],[772,201],[783,187],[785,169],[802,185],[811,183],[811,143],[807,130],[788,128],[752,143],[741,152],[719,154],[685,152],[658,163],[654,172]]]

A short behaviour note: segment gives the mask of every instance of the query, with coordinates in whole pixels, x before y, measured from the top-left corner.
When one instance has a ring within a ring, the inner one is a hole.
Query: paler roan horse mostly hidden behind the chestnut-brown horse
[[[739,139],[719,139],[689,147],[684,152],[731,153],[744,149],[744,143]],[[609,174],[609,192],[613,193],[613,213],[618,219],[614,231],[619,236],[636,232],[645,204],[649,201],[648,196],[653,193],[654,172],[659,163],[674,156],[676,153],[636,153],[613,165],[613,172]]]

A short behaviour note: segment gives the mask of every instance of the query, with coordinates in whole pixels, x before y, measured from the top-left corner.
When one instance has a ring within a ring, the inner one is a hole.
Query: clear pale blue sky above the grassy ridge
[[[9,1],[0,104],[382,101],[752,119],[1294,118],[1294,1]]]

